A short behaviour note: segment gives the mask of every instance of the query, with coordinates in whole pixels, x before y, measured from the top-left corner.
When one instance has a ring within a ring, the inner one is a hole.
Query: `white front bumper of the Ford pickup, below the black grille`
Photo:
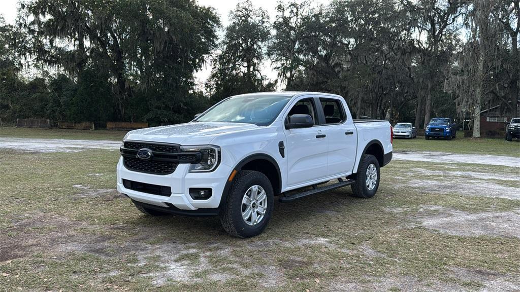
[[[117,188],[120,193],[126,194],[136,202],[163,208],[174,206],[177,209],[188,211],[199,208],[218,208],[232,167],[221,162],[212,172],[188,172],[189,166],[189,164],[179,164],[170,175],[153,175],[126,169],[123,166],[123,158],[120,157],[117,166]],[[170,187],[172,194],[170,196],[154,195],[127,189],[123,185],[123,179]],[[190,188],[211,188],[212,196],[207,200],[193,200],[189,195]]]

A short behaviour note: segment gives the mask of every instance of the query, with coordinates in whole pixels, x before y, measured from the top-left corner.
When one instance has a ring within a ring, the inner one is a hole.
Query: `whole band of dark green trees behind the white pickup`
[[[479,25],[493,31],[482,80],[470,72],[482,44],[470,33],[477,3],[490,5]],[[245,0],[217,44],[215,11],[193,0],[29,0],[16,25],[0,20],[0,118],[173,124],[279,84],[342,95],[356,117],[393,123],[468,116],[477,105],[511,115],[519,17],[518,0],[291,0],[270,23]],[[210,58],[202,92],[194,72]],[[269,64],[278,80],[267,80]]]

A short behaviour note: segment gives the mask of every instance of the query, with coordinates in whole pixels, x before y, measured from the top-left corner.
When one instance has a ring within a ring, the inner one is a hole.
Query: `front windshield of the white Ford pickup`
[[[230,97],[197,118],[197,122],[232,122],[267,126],[275,121],[291,96]]]

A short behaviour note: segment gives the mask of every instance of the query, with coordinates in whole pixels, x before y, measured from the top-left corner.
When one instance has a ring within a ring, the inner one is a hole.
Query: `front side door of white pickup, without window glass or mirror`
[[[292,114],[308,114],[313,118],[310,128],[285,129],[285,153],[287,153],[287,186],[325,178],[327,174],[327,133],[318,127],[318,106],[313,97],[302,97],[291,104],[284,120]]]

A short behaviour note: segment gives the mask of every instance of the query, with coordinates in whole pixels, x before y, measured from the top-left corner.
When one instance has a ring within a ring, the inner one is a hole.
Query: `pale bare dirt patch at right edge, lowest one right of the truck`
[[[439,206],[425,206],[411,218],[427,229],[461,236],[520,238],[520,210],[501,213],[468,213]]]

